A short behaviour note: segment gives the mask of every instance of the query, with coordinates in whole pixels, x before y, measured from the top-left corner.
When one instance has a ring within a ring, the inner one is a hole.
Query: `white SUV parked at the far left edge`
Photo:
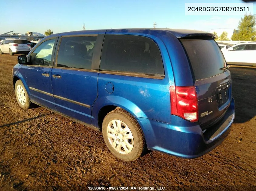
[[[30,43],[26,39],[9,38],[0,43],[0,54],[9,53],[13,56],[16,53],[29,53]]]

